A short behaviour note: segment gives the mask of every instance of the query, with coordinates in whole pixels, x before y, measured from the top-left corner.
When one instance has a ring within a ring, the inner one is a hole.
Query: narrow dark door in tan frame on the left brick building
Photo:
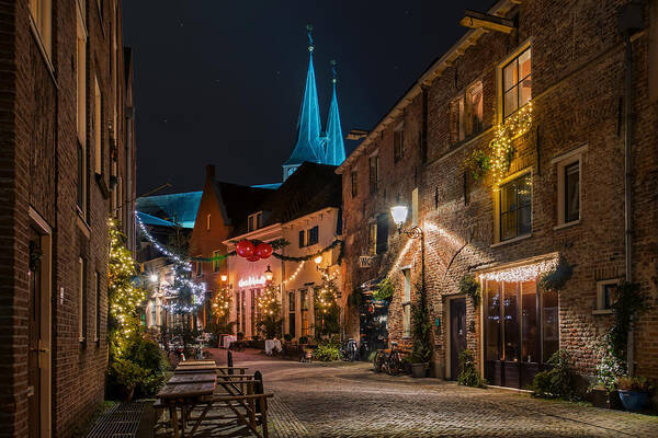
[[[41,237],[34,229],[30,229],[30,301],[27,304],[29,311],[29,327],[27,327],[27,400],[29,400],[29,427],[30,438],[38,438],[41,431],[41,367],[39,354],[42,351],[42,275],[41,275],[41,256],[42,245]]]

